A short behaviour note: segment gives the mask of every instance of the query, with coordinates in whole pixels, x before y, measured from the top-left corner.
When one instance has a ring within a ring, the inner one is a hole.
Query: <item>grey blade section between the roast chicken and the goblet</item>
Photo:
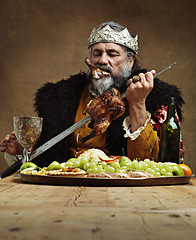
[[[65,131],[59,133],[57,136],[53,137],[52,139],[50,139],[49,141],[47,141],[46,143],[44,143],[43,145],[35,149],[29,156],[29,161],[32,161],[34,158],[38,157],[40,154],[42,154],[49,148],[53,147],[55,144],[57,144],[58,142],[63,140],[65,137],[67,137],[68,135],[70,135],[71,133],[73,133],[78,128],[82,127],[83,125],[85,125],[91,120],[92,120],[91,116],[88,115],[82,120],[80,120],[79,122],[72,125],[71,127],[67,128]]]

